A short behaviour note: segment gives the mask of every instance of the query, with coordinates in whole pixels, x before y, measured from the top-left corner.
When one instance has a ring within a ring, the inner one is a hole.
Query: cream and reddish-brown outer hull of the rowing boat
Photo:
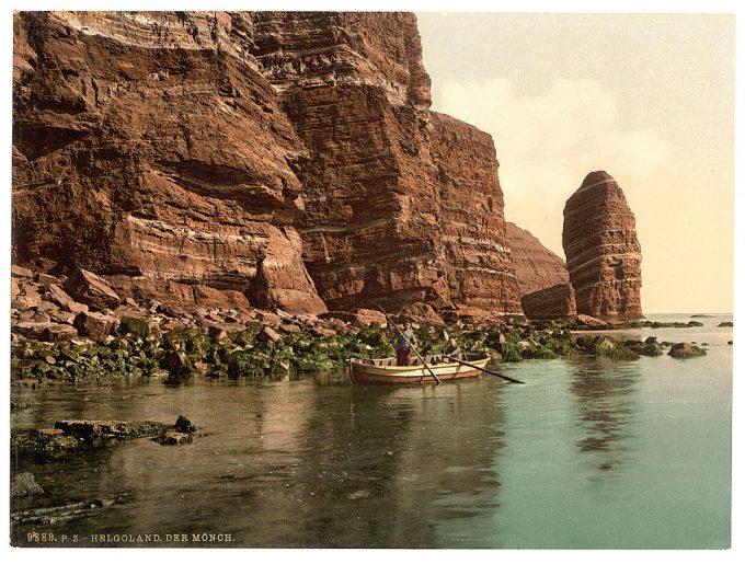
[[[374,361],[388,361],[389,359],[376,359]],[[349,361],[349,378],[354,383],[371,384],[423,384],[436,383],[435,378],[424,366],[380,366],[369,364],[369,360]],[[469,359],[469,364],[479,369],[461,365],[459,362],[442,362],[428,365],[429,369],[437,375],[440,381],[473,378],[481,373],[481,368],[489,364],[489,357]]]

